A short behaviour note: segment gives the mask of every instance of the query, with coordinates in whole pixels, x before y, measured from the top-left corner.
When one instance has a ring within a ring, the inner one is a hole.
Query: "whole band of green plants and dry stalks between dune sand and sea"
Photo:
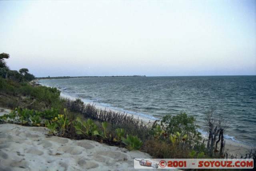
[[[213,111],[205,114],[209,136],[203,139],[196,119],[185,112],[145,122],[133,115],[84,104],[79,98],[61,98],[57,88],[26,79],[28,69],[7,77],[9,69],[3,68],[7,72],[0,77],[0,106],[12,111],[0,116],[0,124],[46,127],[48,136],[94,140],[129,151],[140,150],[152,158],[253,158],[256,165],[255,149],[246,155],[226,150],[226,121]]]

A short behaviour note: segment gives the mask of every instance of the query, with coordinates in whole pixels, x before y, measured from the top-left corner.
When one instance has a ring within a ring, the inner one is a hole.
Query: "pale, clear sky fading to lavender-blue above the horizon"
[[[0,1],[2,52],[36,77],[256,75],[256,1]]]

